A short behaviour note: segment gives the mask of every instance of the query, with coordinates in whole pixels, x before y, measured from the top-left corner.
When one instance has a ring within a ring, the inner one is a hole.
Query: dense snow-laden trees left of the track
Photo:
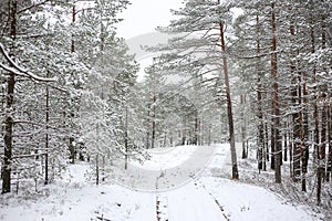
[[[79,156],[98,182],[98,165],[139,146],[124,122],[138,66],[115,32],[127,4],[0,2],[2,193],[37,190]]]

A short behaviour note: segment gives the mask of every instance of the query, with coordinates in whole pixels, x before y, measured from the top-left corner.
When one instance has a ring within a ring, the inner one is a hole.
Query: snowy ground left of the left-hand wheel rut
[[[10,206],[0,209],[0,220],[153,220],[154,196],[114,185],[87,185],[87,165],[73,165],[61,182],[43,190],[41,199],[10,200]]]

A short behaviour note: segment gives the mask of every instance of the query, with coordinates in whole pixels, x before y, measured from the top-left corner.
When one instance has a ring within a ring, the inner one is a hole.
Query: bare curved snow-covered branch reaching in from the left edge
[[[35,74],[33,74],[32,72],[29,72],[28,70],[19,66],[10,56],[9,54],[7,53],[7,51],[4,50],[4,46],[2,45],[2,43],[0,43],[0,52],[1,54],[4,56],[4,59],[10,63],[10,65],[12,67],[9,67],[2,63],[0,63],[0,66],[2,69],[4,69],[6,71],[9,71],[9,72],[12,72],[17,75],[21,75],[21,76],[28,76],[29,78],[32,78],[32,80],[35,80],[35,81],[39,81],[39,82],[55,82],[56,78],[55,77],[42,77],[42,76],[38,76]]]

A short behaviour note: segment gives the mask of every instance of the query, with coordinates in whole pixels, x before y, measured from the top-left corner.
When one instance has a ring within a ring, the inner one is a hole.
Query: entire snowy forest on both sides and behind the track
[[[251,155],[273,185],[331,210],[332,2],[184,0],[157,28],[168,42],[142,45],[159,55],[141,82],[116,33],[129,4],[0,1],[2,194],[37,191],[76,161],[100,185],[118,158],[229,143],[230,179]]]

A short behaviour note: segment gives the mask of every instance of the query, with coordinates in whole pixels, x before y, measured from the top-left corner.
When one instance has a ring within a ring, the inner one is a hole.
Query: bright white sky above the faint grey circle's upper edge
[[[131,39],[144,33],[154,32],[158,25],[167,25],[173,19],[170,9],[181,7],[183,0],[131,0],[132,4],[120,18],[117,35]]]

